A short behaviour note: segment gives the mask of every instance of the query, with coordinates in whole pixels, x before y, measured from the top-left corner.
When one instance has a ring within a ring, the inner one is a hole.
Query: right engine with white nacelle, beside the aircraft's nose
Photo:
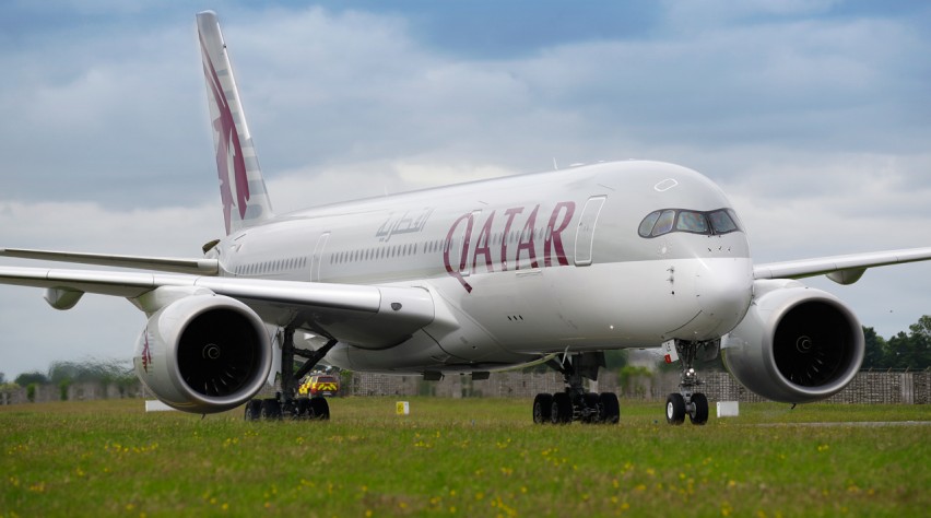
[[[797,281],[756,281],[746,317],[721,344],[724,366],[773,401],[829,398],[863,363],[860,321],[837,297]]]

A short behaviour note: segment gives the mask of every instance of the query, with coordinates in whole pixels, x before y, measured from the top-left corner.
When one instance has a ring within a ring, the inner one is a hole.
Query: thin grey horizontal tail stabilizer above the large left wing
[[[119,256],[111,254],[81,254],[73,251],[30,250],[24,248],[0,248],[0,256],[20,259],[37,259],[40,261],[60,261],[80,264],[96,264],[101,267],[137,268],[173,273],[191,273],[196,275],[216,275],[220,263],[216,259],[173,258],[173,257],[140,257]]]

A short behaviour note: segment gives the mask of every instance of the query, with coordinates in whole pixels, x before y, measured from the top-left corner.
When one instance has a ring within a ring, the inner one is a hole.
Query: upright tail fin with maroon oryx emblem
[[[216,13],[197,15],[226,234],[272,216],[262,170]]]

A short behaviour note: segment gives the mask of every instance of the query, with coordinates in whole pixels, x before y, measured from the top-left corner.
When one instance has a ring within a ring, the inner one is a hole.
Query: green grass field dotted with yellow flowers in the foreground
[[[408,398],[405,398],[408,399]],[[140,400],[0,407],[0,517],[927,516],[928,405],[744,403],[665,424],[533,425],[529,400],[331,400],[330,422],[146,414]]]

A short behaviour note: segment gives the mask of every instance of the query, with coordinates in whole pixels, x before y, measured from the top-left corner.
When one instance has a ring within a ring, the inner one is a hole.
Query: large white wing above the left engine
[[[434,320],[434,302],[420,287],[332,284],[146,272],[0,267],[0,284],[45,287],[46,301],[69,309],[84,293],[128,298],[162,287],[236,298],[267,322],[294,325],[364,348],[385,348]]]

